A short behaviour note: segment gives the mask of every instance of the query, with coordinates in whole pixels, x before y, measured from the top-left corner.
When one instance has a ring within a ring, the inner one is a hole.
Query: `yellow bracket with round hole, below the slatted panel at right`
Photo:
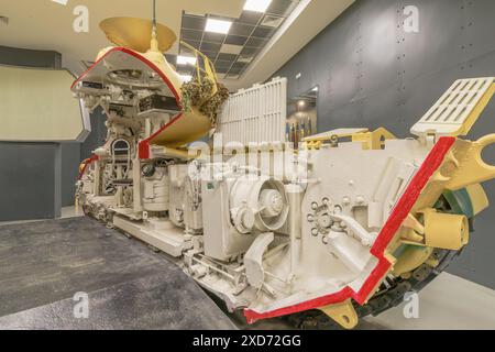
[[[495,166],[487,165],[482,158],[483,150],[494,143],[495,134],[486,135],[476,142],[458,141],[454,153],[462,154],[462,158],[455,160],[458,165],[450,161],[455,173],[450,177],[447,188],[458,190],[495,178]],[[483,207],[483,199],[479,200],[480,206]]]

